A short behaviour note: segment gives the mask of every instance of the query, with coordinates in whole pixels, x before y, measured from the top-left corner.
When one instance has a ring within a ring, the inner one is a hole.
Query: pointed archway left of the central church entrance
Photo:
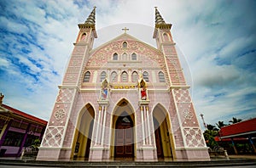
[[[93,107],[90,104],[85,105],[79,114],[73,141],[73,158],[76,160],[88,160],[89,158],[94,118]]]

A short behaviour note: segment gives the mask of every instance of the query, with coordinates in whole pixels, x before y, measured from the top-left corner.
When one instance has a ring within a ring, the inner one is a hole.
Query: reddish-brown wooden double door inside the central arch
[[[130,116],[119,116],[115,126],[115,158],[133,158],[133,124]]]

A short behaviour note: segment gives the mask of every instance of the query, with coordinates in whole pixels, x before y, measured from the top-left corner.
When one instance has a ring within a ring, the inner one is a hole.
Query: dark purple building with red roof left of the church
[[[0,99],[0,157],[20,157],[23,149],[41,140],[47,121],[2,104]]]

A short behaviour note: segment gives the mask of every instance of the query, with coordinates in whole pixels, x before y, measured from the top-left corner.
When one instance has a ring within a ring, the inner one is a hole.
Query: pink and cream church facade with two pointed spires
[[[209,160],[172,25],[155,8],[157,48],[126,28],[92,48],[95,15],[79,24],[37,160]]]

